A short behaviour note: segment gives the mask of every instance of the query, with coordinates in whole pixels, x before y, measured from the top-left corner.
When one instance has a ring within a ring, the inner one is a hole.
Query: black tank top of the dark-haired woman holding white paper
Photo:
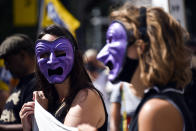
[[[100,95],[100,94],[99,94]],[[108,127],[108,114],[107,114],[107,110],[106,110],[106,106],[104,103],[104,100],[102,98],[102,96],[100,95],[103,106],[104,106],[104,111],[105,111],[105,122],[104,124],[98,128],[98,131],[107,131],[107,127]],[[66,109],[65,103],[62,103],[61,106],[56,110],[56,113],[53,114],[54,117],[59,120],[61,123],[64,122],[64,118],[67,115],[68,110]]]

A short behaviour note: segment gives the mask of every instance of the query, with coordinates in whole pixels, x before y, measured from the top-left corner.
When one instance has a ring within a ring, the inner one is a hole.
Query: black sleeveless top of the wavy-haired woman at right
[[[192,118],[190,117],[189,114],[190,112],[184,101],[183,92],[176,90],[174,88],[160,88],[160,87],[154,87],[152,89],[149,89],[149,91],[145,93],[131,121],[130,128],[129,128],[130,131],[138,131],[138,114],[142,106],[145,104],[145,102],[152,98],[160,98],[174,103],[178,107],[179,111],[183,116],[184,131],[195,131],[194,124],[192,123],[193,122]]]

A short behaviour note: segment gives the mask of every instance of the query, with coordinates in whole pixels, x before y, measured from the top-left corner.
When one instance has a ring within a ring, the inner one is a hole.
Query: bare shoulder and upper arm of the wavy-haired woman
[[[171,103],[154,98],[142,107],[138,128],[139,131],[182,131],[183,119]]]

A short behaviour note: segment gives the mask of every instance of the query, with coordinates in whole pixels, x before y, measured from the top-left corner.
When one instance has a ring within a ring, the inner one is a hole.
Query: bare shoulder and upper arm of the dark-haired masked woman
[[[104,122],[102,100],[96,91],[90,89],[83,89],[77,94],[64,120],[65,125],[73,127],[86,123],[99,128]]]

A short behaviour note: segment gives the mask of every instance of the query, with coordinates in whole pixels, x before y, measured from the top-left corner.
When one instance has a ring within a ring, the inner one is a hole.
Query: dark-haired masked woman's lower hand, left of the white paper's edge
[[[23,131],[30,131],[32,128],[32,114],[34,114],[34,106],[34,102],[27,102],[22,106],[19,112]]]

